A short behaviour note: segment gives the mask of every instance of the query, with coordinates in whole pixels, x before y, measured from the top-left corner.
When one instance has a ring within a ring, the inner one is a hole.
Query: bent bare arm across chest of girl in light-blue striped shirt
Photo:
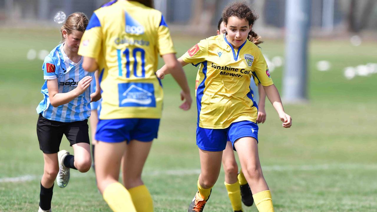
[[[90,81],[92,77],[86,76],[82,78],[75,89],[67,93],[59,93],[58,79],[47,80],[47,89],[49,94],[50,103],[54,107],[69,103],[78,97],[80,94],[83,94],[84,91],[89,88]]]

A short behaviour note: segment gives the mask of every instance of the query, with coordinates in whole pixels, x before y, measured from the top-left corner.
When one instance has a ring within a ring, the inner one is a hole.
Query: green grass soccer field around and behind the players
[[[37,211],[43,157],[35,132],[41,101],[41,60],[26,60],[29,49],[50,51],[58,30],[0,31],[0,211]],[[178,56],[199,38],[174,37]],[[268,57],[284,57],[282,40],[265,40]],[[293,117],[282,128],[271,104],[261,124],[259,154],[277,212],[377,211],[377,74],[347,80],[346,66],[376,62],[377,43],[351,46],[344,40],[312,40],[309,48],[308,104],[285,105]],[[328,60],[331,69],[316,70]],[[161,65],[161,63],[160,63]],[[280,89],[284,68],[271,73]],[[196,68],[185,72],[193,88]],[[159,138],[154,141],[143,180],[157,212],[187,211],[196,192],[199,155],[195,144],[196,108],[184,112],[172,77],[163,80],[165,100]],[[73,151],[66,138],[61,149]],[[231,211],[220,174],[205,211]],[[71,171],[69,186],[54,188],[52,210],[110,211],[97,191],[92,170]],[[257,211],[244,206],[244,212]]]

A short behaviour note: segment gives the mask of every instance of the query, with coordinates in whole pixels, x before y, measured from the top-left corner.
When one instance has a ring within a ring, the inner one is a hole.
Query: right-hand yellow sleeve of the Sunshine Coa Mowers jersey
[[[259,55],[259,58],[253,62],[252,70],[254,75],[254,80],[256,80],[256,84],[261,83],[263,86],[269,86],[271,84],[274,84],[274,82],[271,79],[270,71],[268,70],[268,66],[266,63],[265,58],[263,57],[263,54]]]

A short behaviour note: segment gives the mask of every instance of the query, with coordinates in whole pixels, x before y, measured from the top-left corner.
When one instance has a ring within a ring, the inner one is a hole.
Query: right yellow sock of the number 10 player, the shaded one
[[[153,200],[147,186],[141,185],[128,189],[137,212],[153,212]]]

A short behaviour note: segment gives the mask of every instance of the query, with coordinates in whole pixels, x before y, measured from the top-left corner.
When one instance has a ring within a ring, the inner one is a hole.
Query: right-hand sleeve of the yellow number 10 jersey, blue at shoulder
[[[159,22],[157,48],[160,55],[176,53],[173,47],[173,40],[170,37],[170,31],[165,23],[164,16],[161,15],[161,21]]]

